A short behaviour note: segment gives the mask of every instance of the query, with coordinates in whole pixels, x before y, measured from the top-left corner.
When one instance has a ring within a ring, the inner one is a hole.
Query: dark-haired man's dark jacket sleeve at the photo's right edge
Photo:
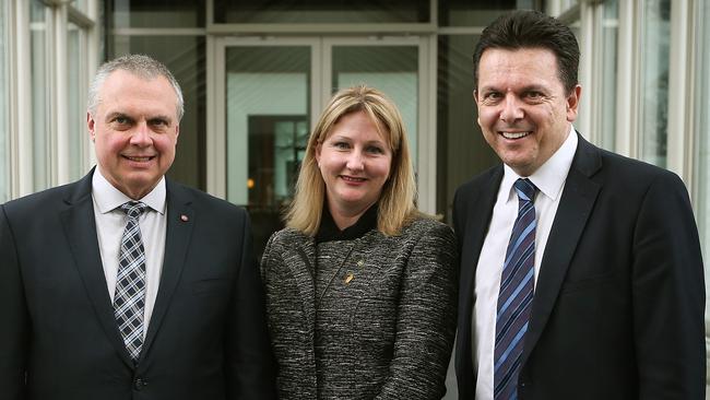
[[[705,399],[705,279],[688,193],[674,174],[649,187],[634,233],[639,399]]]

